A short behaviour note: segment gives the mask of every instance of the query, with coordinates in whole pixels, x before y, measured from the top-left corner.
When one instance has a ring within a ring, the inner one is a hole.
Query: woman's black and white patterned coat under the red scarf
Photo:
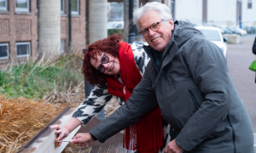
[[[143,76],[143,73],[145,72],[146,66],[149,61],[149,57],[143,49],[144,44],[147,45],[147,43],[144,43],[144,42],[133,42],[131,44],[135,63],[142,76]],[[122,82],[119,75],[117,77],[119,81]],[[125,104],[125,99],[121,99],[112,94],[108,94],[107,85],[104,85],[102,87],[95,87],[90,92],[90,96],[87,99],[85,99],[81,105],[79,105],[77,111],[74,112],[73,117],[79,119],[80,122],[83,122],[84,125],[86,125],[87,122],[89,122],[93,116],[95,116],[97,113],[102,111],[104,106],[113,97],[119,101],[119,105]],[[164,152],[164,148],[166,144],[168,144],[168,142],[172,140],[171,135],[172,135],[172,138],[175,138],[177,135],[177,133],[175,133],[170,128],[170,125],[165,120],[162,120],[162,126],[163,126],[163,132],[164,132],[164,138],[163,138],[164,146],[159,150],[159,153]]]

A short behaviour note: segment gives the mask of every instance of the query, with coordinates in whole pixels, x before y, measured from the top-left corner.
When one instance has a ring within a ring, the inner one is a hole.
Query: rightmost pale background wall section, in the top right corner
[[[256,0],[252,0],[253,7],[247,8],[247,1],[241,3],[242,26],[256,26]]]

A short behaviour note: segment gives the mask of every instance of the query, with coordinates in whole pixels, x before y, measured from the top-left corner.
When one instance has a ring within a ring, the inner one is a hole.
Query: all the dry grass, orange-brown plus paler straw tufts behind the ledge
[[[24,98],[6,99],[6,96],[0,95],[0,152],[20,150],[67,106],[78,106],[84,101],[84,82],[77,86],[71,82],[66,88],[67,83],[61,90],[54,89],[37,102]]]

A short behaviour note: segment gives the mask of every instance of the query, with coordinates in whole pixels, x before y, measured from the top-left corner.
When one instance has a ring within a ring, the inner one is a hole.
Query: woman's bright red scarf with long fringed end
[[[119,42],[119,64],[122,84],[114,76],[105,76],[108,86],[108,93],[120,98],[130,98],[133,88],[141,81],[142,76],[134,61],[131,46],[126,42]],[[126,93],[123,88],[126,86]],[[141,116],[140,121],[125,128],[123,145],[127,150],[139,152],[157,151],[163,145],[163,129],[159,106]]]

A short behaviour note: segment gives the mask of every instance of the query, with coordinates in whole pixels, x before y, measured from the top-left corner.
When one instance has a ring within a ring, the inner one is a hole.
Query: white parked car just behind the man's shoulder
[[[195,26],[196,29],[201,31],[207,40],[215,43],[218,48],[220,48],[224,54],[224,57],[227,57],[227,38],[222,37],[222,34],[218,27],[212,26]]]

